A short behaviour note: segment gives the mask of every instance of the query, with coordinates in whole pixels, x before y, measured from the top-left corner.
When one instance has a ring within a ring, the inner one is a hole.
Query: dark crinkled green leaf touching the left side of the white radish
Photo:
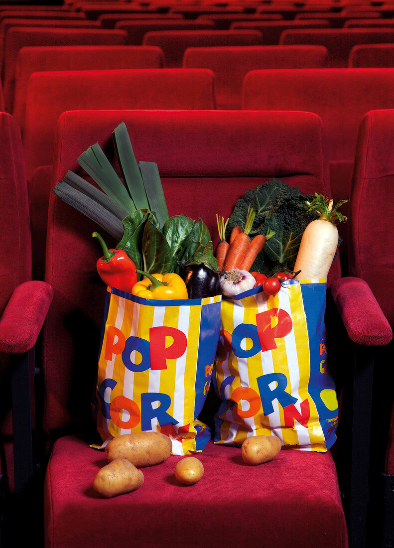
[[[293,270],[306,226],[318,218],[305,203],[305,196],[285,196],[272,216],[267,218],[264,230],[272,230],[272,236],[264,246],[264,253],[271,261],[278,261]]]

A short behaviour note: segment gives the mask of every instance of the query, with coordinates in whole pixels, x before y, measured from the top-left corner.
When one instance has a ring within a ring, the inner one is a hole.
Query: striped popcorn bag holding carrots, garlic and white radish
[[[215,390],[215,443],[276,435],[284,448],[327,451],[338,402],[328,371],[326,279],[287,280],[223,297]]]

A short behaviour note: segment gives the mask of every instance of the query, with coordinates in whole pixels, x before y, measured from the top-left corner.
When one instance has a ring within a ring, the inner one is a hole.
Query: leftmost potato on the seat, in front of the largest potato
[[[116,459],[98,471],[93,480],[93,489],[105,496],[129,493],[141,487],[144,483],[144,474],[136,469],[127,459]]]

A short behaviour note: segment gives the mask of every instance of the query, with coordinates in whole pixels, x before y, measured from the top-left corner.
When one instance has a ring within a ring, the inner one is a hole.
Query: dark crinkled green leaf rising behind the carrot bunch
[[[226,229],[226,239],[230,237],[230,233],[235,226],[244,228],[249,207],[252,207],[256,213],[250,236],[265,234],[265,223],[275,214],[276,209],[287,196],[300,197],[302,200],[308,198],[296,187],[291,187],[286,182],[276,178],[265,181],[264,185],[256,186],[255,189],[246,190],[244,196],[238,199],[230,216]]]

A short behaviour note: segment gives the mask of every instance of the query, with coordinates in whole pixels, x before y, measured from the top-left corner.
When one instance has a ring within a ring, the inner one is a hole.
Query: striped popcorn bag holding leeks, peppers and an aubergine
[[[93,402],[103,441],[132,432],[169,436],[173,454],[201,452],[197,419],[220,333],[221,295],[153,300],[108,287]]]

